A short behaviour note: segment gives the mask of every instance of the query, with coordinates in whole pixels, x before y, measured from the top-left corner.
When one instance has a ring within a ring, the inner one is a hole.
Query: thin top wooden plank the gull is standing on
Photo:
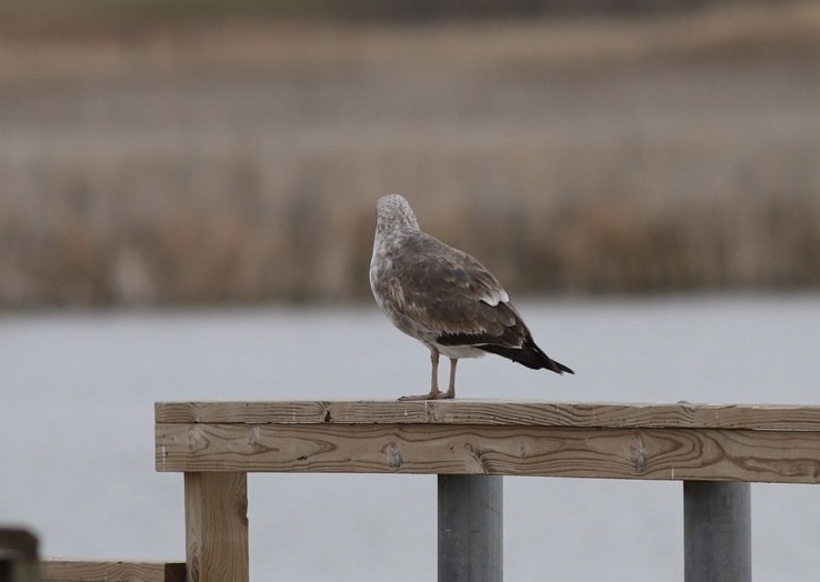
[[[470,424],[820,431],[820,407],[508,401],[158,402],[158,424]]]

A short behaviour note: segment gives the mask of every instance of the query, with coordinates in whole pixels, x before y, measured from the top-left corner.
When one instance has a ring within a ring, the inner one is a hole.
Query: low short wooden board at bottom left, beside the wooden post
[[[47,560],[42,575],[43,582],[184,582],[186,564]]]

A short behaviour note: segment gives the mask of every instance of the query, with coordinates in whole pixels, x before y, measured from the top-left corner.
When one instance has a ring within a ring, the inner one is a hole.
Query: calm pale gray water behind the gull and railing
[[[519,307],[577,375],[488,357],[460,397],[820,404],[820,295]],[[0,317],[0,522],[48,555],[181,561],[154,401],[388,399],[428,367],[369,305]],[[753,485],[752,506],[756,581],[817,580],[820,486]],[[249,518],[257,581],[436,579],[434,476],[252,474]],[[681,484],[508,478],[504,543],[508,582],[681,581]]]

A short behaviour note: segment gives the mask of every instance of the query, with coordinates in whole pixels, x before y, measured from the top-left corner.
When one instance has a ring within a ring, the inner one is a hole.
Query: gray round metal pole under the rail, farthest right
[[[683,482],[686,582],[751,582],[749,483]]]

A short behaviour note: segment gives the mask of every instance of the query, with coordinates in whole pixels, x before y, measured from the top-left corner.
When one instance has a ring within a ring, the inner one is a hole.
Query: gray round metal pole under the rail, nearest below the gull
[[[439,475],[439,582],[502,580],[502,478]]]

